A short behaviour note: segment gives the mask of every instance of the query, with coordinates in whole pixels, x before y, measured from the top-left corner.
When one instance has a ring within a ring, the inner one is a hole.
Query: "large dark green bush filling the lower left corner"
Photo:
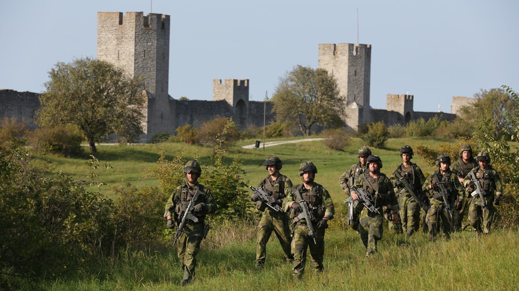
[[[89,161],[89,173],[98,167]],[[112,201],[48,169],[47,164],[37,167],[24,148],[0,147],[3,274],[37,277],[73,271],[111,244]]]

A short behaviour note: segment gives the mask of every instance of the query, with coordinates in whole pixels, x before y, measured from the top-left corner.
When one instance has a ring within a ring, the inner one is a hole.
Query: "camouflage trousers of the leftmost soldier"
[[[200,223],[194,225],[186,225],[177,240],[177,254],[179,256],[180,266],[184,270],[182,280],[190,280],[195,276],[196,256],[200,251],[200,243],[202,242],[201,234],[203,233],[203,225]]]

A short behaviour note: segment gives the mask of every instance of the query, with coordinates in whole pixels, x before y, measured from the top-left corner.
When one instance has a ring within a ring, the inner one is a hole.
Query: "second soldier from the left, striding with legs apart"
[[[278,157],[268,157],[263,162],[263,165],[266,167],[269,175],[260,182],[258,188],[262,188],[271,193],[268,200],[271,205],[278,204],[281,206],[286,197],[285,189],[292,187],[292,181],[279,172],[283,166]],[[260,224],[258,224],[257,227],[256,260],[254,262],[256,267],[263,268],[265,265],[266,246],[272,231],[274,231],[278,237],[286,261],[292,262],[294,256],[290,250],[292,239],[290,237],[288,214],[284,211],[276,212],[269,207],[265,207],[265,201],[258,201],[260,200],[260,196],[257,194],[253,194],[251,200],[257,201],[257,209],[263,212],[260,218]]]

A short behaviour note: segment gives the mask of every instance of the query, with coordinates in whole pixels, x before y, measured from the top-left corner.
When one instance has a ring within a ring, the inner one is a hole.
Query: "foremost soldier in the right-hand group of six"
[[[378,156],[369,156],[366,161],[368,171],[359,176],[355,186],[367,191],[370,202],[375,206],[376,211],[371,211],[363,207],[360,213],[360,239],[366,247],[366,257],[377,252],[377,242],[382,239],[384,228],[382,226],[382,213],[387,214],[387,219],[394,224],[400,223],[399,207],[397,197],[394,195],[393,185],[390,179],[380,173],[382,160]],[[357,192],[351,192],[351,198],[359,201]],[[360,204],[360,203],[359,203]]]

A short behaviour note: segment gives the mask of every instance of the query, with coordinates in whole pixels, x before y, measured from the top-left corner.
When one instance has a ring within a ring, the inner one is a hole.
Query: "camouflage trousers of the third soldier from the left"
[[[324,228],[317,228],[317,223],[312,225],[316,231],[317,243],[313,243],[313,239],[308,234],[306,224],[299,224],[294,227],[292,238],[292,253],[294,254],[293,276],[302,276],[305,272],[307,248],[310,249],[310,268],[316,272],[322,271],[324,268]]]

